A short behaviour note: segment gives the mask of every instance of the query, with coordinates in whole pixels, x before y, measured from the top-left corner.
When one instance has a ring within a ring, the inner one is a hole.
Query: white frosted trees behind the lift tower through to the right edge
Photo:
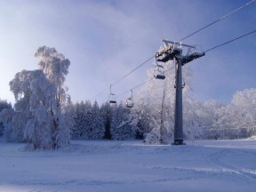
[[[133,114],[145,130],[145,141],[170,143],[174,128],[175,71],[172,63],[164,65],[164,81],[149,81],[134,98]],[[148,70],[148,78],[153,70]],[[183,67],[185,87],[183,89],[183,130],[185,139],[237,139],[255,135],[256,89],[236,92],[227,105],[216,100],[205,102],[193,100],[191,92],[192,71]]]

